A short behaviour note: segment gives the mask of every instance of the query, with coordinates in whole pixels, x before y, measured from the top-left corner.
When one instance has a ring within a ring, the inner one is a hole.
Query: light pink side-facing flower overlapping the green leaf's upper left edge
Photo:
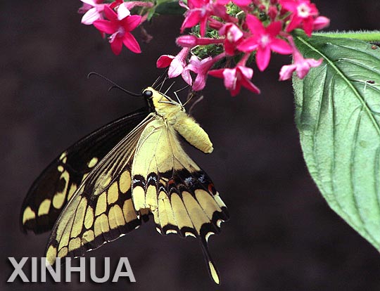
[[[314,58],[303,58],[298,49],[296,48],[293,39],[289,37],[289,42],[293,47],[293,64],[284,65],[279,72],[280,81],[290,79],[293,72],[296,71],[300,79],[303,79],[310,70],[310,67],[318,67],[322,64],[323,59],[315,60]]]

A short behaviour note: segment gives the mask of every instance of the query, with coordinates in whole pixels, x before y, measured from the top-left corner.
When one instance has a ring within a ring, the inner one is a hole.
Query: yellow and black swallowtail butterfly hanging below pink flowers
[[[127,91],[144,97],[144,108],[82,138],[49,164],[27,193],[20,223],[25,232],[52,230],[45,257],[53,265],[56,257],[80,257],[120,238],[151,214],[160,234],[200,241],[219,284],[208,238],[220,233],[229,214],[179,136],[203,153],[213,144],[179,99],[153,86],[141,94]]]

